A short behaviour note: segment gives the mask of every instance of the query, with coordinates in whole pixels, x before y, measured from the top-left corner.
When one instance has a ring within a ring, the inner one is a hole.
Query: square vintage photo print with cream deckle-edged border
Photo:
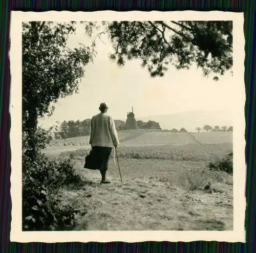
[[[20,48],[11,39],[20,233],[241,229],[243,22],[53,13],[23,14]]]

